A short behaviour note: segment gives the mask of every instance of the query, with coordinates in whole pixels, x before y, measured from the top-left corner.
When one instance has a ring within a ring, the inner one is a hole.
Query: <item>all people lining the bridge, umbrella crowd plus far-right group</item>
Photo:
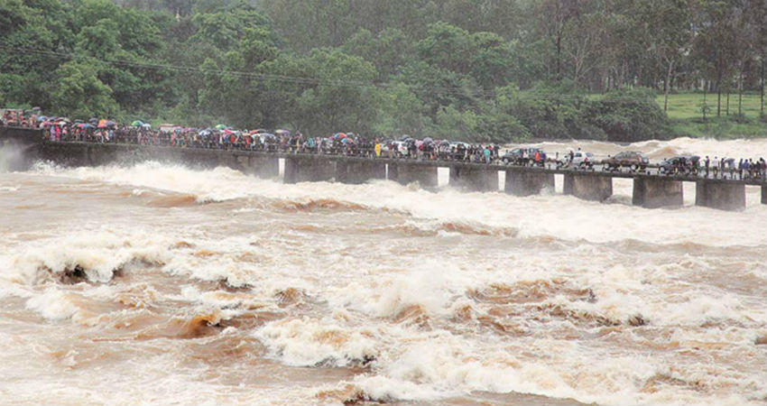
[[[485,164],[503,161],[529,166],[545,166],[551,163],[556,168],[568,167],[568,160],[573,159],[572,152],[564,154],[563,159],[559,160],[559,153],[556,158],[550,159],[542,150],[531,148],[513,150],[513,152],[521,151],[520,156],[509,161],[508,155],[501,156],[498,145],[435,141],[430,137],[417,140],[409,135],[402,135],[398,139],[384,139],[380,136],[365,137],[353,133],[310,137],[287,130],[273,132],[263,129],[237,130],[228,125],[204,129],[180,125],[161,125],[158,128],[152,128],[152,125],[141,121],[134,121],[130,125],[97,118],[91,118],[87,122],[72,121],[67,117],[42,115],[38,109],[5,110],[2,125],[41,129],[52,142],[134,143],[180,148],[321,153]],[[661,162],[659,168],[659,174],[667,176],[683,175],[733,180],[767,179],[767,161],[763,158],[736,161],[734,158],[718,156],[715,156],[713,160],[708,156],[705,158],[674,157]]]

